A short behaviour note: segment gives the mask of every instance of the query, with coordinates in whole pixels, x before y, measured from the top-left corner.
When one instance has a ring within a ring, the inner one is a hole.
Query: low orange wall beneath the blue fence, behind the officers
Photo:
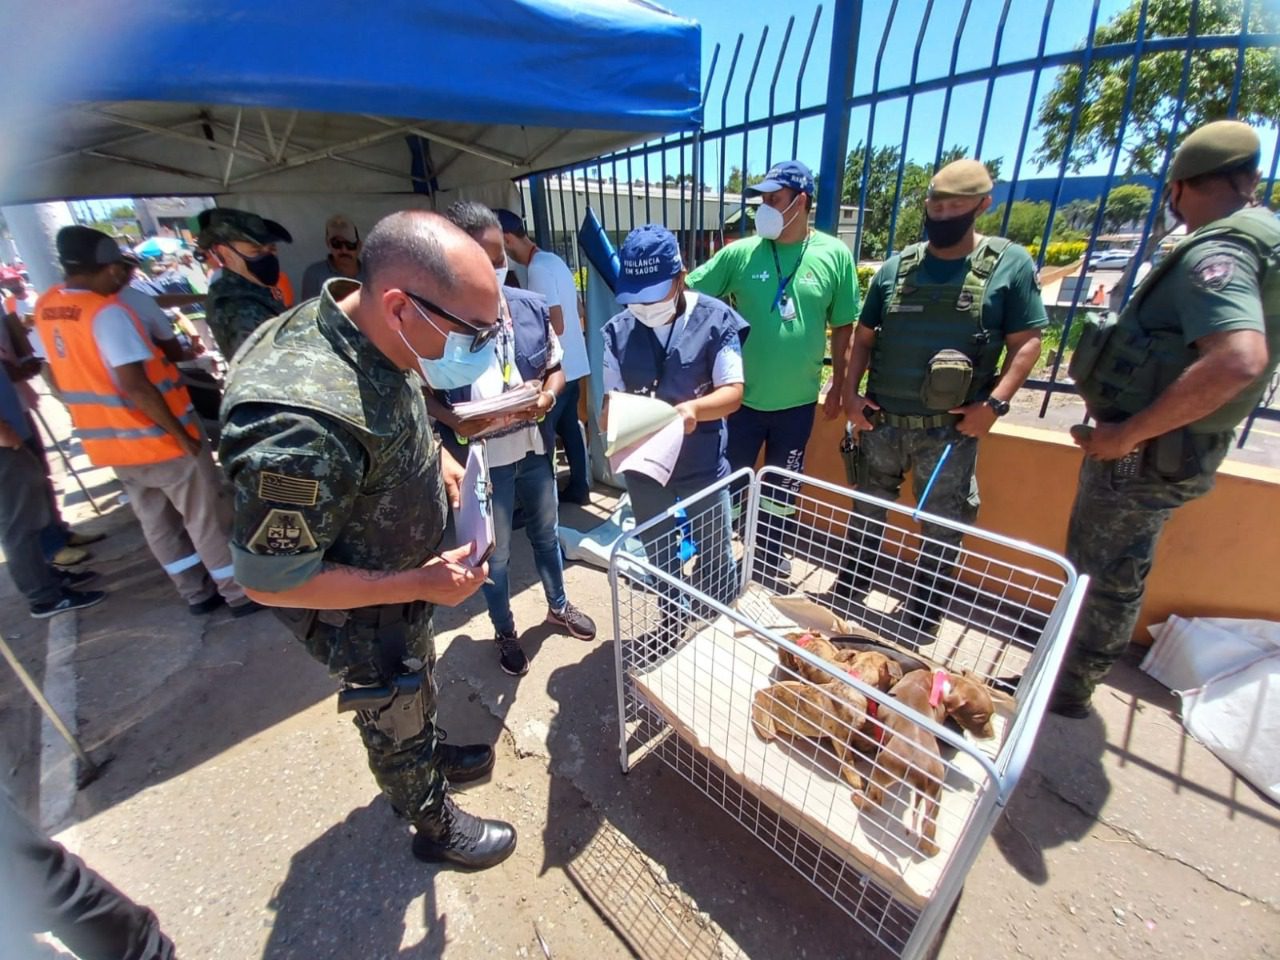
[[[842,424],[818,413],[805,472],[844,484]],[[1080,452],[1065,433],[1000,424],[982,442],[978,525],[1057,553],[1075,497]],[[914,503],[904,484],[904,503]],[[1147,625],[1184,617],[1280,620],[1280,471],[1228,462],[1215,489],[1174,512],[1165,527],[1135,640]]]

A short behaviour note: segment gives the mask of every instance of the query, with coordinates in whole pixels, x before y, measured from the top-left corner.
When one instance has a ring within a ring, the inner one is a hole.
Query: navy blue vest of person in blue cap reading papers
[[[677,317],[671,343],[636,320],[630,310],[604,325],[604,349],[618,360],[627,393],[652,394],[676,404],[705,397],[716,389],[712,372],[726,338],[739,346],[750,333],[746,320],[731,307],[698,294],[687,323]],[[685,436],[671,484],[712,484],[728,475],[724,420],[700,422]]]

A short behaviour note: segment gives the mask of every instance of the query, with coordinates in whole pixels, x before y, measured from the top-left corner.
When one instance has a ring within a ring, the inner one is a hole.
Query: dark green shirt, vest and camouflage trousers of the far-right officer
[[[1242,242],[1239,234],[1206,236],[1221,228],[1238,229],[1242,219],[1249,227],[1251,218],[1261,234],[1254,243]],[[1270,264],[1263,252],[1267,243]],[[1202,227],[1183,244],[1169,255],[1178,260],[1167,273],[1157,266],[1147,276],[1151,283],[1134,292],[1112,335],[1119,339],[1137,332],[1156,343],[1171,342],[1171,355],[1153,344],[1137,369],[1121,358],[1112,367],[1119,387],[1112,392],[1105,383],[1102,367],[1111,364],[1103,352],[1094,371],[1078,381],[1089,413],[1100,422],[1116,422],[1155,403],[1162,384],[1172,383],[1194,362],[1197,355],[1187,344],[1215,332],[1263,330],[1268,370],[1208,416],[1144,444],[1137,476],[1117,475],[1114,462],[1085,458],[1071,507],[1066,556],[1091,584],[1055,687],[1059,707],[1088,704],[1129,645],[1165,522],[1176,507],[1213,486],[1235,425],[1258,402],[1280,358],[1280,224],[1268,211],[1245,210]],[[1174,462],[1162,454],[1167,449],[1174,449]]]

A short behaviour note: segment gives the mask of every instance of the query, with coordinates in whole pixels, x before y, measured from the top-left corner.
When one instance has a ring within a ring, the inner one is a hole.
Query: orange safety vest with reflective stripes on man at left
[[[36,301],[36,329],[84,453],[100,467],[160,463],[183,456],[178,442],[124,396],[97,352],[93,317],[106,306],[123,307],[133,319],[142,339],[151,347],[151,358],[143,366],[147,379],[187,433],[200,439],[196,411],[187,388],[182,385],[178,367],[151,342],[133,311],[114,296],[68,291],[56,284]]]

